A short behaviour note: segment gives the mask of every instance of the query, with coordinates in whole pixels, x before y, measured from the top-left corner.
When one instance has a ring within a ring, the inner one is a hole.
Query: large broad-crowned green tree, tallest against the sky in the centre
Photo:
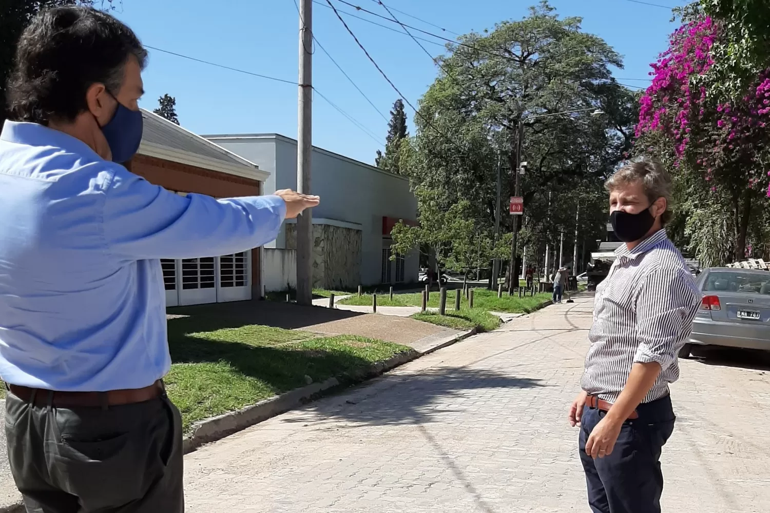
[[[531,244],[541,245],[529,254],[541,254],[547,235],[560,227],[571,226],[574,233],[574,208],[564,205],[574,205],[576,185],[588,180],[601,191],[634,142],[637,98],[610,71],[622,67],[620,56],[582,32],[580,18],[560,18],[541,2],[526,18],[460,36],[439,63],[414,118],[417,133],[401,148],[400,167],[413,186],[437,192],[444,209],[467,201],[469,218],[492,233],[500,158],[501,233],[510,233],[513,216],[505,212],[514,192],[511,171],[519,160],[527,161],[521,192],[528,229],[537,234]],[[597,108],[605,114],[591,115]],[[542,117],[571,111],[584,112]],[[604,205],[599,214],[606,216]],[[519,255],[523,248],[518,245]]]

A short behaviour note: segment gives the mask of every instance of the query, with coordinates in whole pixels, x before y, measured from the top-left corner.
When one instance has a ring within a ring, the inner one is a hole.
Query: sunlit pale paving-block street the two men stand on
[[[202,448],[187,511],[589,511],[567,407],[591,310],[545,308]],[[663,511],[770,511],[770,374],[752,363],[681,361]]]

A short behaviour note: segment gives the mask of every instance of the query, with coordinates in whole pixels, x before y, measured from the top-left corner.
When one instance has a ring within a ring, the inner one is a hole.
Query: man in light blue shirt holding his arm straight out
[[[136,35],[55,8],[25,30],[0,135],[0,377],[27,511],[183,511],[159,258],[255,248],[318,198],[182,197],[133,175]]]

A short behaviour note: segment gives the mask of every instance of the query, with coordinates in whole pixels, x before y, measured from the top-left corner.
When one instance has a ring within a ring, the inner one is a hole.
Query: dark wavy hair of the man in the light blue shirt
[[[117,94],[131,55],[144,68],[147,51],[139,38],[106,12],[46,9],[19,38],[8,81],[8,112],[16,121],[72,122],[88,108],[85,92],[93,84],[102,83]]]

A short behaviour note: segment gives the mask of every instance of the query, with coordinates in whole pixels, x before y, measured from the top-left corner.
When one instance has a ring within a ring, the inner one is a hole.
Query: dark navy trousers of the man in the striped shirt
[[[638,406],[639,418],[623,423],[612,454],[591,458],[585,443],[606,413],[583,409],[580,459],[588,484],[588,505],[594,513],[660,513],[663,474],[661,448],[674,431],[671,396]]]

